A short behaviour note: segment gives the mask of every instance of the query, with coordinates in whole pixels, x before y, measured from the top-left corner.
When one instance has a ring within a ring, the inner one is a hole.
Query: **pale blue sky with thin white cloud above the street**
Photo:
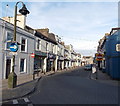
[[[6,8],[6,4],[9,7]],[[92,55],[98,41],[118,26],[118,2],[25,2],[27,25],[49,28],[76,52]],[[15,2],[2,3],[2,16],[13,16]],[[18,6],[20,8],[21,5]],[[1,16],[1,17],[2,17]]]

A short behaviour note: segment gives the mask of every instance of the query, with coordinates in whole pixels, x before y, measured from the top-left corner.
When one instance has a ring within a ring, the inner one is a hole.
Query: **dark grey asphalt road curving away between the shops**
[[[118,86],[89,79],[89,74],[82,67],[45,76],[29,99],[32,104],[117,104]]]

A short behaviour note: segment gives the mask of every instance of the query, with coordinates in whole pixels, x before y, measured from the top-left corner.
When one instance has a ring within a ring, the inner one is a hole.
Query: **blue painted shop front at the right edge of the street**
[[[120,79],[120,51],[116,51],[116,44],[120,44],[120,31],[110,35],[106,40],[106,73],[114,79]]]

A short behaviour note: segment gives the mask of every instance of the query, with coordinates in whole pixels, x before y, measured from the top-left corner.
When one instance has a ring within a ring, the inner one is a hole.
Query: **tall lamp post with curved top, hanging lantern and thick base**
[[[14,35],[13,35],[13,42],[17,44],[16,42],[16,24],[17,24],[17,5],[19,3],[22,3],[22,8],[19,10],[19,12],[22,14],[22,15],[27,15],[29,14],[30,12],[27,10],[25,4],[22,2],[22,1],[19,1],[16,3],[15,5],[15,13],[14,13]],[[17,51],[15,51],[17,52]],[[14,72],[14,67],[15,67],[15,55],[13,55],[13,66],[12,66],[12,72],[9,74],[8,76],[8,87],[9,88],[14,88],[16,87],[17,85],[17,75],[15,74]]]

